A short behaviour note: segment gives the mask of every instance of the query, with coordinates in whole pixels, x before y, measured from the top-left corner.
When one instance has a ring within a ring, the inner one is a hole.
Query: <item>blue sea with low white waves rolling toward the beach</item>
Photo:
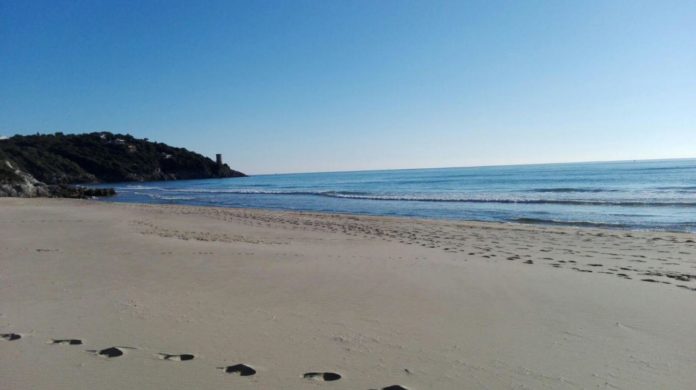
[[[696,232],[696,159],[117,183],[108,202]]]

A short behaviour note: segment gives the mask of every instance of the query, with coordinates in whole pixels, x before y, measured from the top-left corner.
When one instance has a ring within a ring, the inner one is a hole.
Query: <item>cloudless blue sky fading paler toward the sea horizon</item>
[[[249,173],[696,157],[694,1],[0,0],[0,135]]]

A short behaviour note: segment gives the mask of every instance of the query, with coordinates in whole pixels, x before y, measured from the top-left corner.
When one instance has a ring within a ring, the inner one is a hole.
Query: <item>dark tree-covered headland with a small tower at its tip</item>
[[[0,196],[46,196],[43,185],[242,176],[198,153],[130,135],[56,133],[0,140]],[[38,192],[18,189],[37,185]]]

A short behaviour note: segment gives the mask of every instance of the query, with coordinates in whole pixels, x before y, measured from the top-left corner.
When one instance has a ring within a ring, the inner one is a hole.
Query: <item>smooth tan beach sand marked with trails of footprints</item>
[[[0,199],[0,389],[694,389],[695,240]]]

